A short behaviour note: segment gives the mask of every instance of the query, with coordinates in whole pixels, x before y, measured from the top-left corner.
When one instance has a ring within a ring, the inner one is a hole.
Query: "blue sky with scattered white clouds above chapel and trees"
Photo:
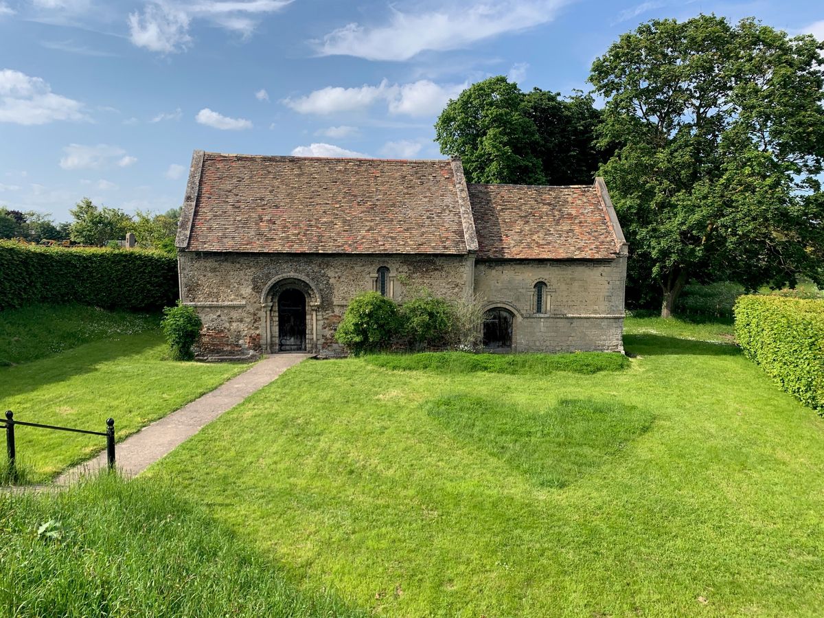
[[[622,32],[699,12],[824,39],[818,0],[0,0],[0,205],[162,212],[195,148],[439,157],[466,85],[588,89]]]

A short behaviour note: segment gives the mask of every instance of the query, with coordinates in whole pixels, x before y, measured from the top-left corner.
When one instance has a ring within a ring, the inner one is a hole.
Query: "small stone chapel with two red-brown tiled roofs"
[[[340,353],[350,299],[477,297],[490,351],[622,351],[627,245],[606,185],[467,185],[459,159],[195,151],[177,232],[199,358]]]

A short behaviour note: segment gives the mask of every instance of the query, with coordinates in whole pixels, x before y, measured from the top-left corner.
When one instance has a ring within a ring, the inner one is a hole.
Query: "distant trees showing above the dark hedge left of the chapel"
[[[162,214],[138,210],[134,216],[120,208],[97,206],[83,198],[69,209],[71,222],[55,223],[49,215],[0,207],[0,239],[22,238],[27,242],[72,241],[78,245],[118,246],[132,232],[138,246],[175,252],[180,208]]]

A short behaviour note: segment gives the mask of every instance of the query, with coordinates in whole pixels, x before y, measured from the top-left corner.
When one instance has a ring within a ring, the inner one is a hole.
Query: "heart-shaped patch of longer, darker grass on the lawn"
[[[559,400],[538,408],[450,395],[424,402],[455,438],[478,447],[540,487],[562,489],[603,466],[652,426],[653,414],[613,401]]]

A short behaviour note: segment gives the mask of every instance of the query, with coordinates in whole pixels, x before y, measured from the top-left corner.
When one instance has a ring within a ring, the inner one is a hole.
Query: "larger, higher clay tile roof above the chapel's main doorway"
[[[463,198],[461,217],[454,163],[196,151],[177,244],[193,251],[466,253],[471,212]],[[473,236],[472,250],[474,243]]]

